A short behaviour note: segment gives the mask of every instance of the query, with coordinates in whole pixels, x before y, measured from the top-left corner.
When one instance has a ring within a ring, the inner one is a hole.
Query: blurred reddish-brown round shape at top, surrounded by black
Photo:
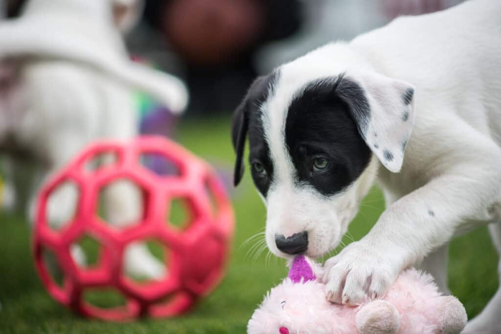
[[[159,25],[187,62],[212,66],[258,40],[264,10],[262,3],[247,0],[172,0]]]

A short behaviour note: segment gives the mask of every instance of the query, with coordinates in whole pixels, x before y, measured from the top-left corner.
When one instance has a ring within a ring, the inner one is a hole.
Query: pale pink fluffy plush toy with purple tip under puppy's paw
[[[323,268],[297,256],[289,276],[265,296],[247,324],[248,334],[459,333],[466,311],[453,296],[437,291],[433,278],[405,270],[383,299],[357,307],[327,301]]]

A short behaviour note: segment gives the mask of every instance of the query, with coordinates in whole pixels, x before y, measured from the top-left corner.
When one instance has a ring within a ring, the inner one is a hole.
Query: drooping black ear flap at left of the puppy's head
[[[245,148],[245,138],[248,130],[248,111],[246,110],[247,97],[236,107],[231,122],[231,141],[236,154],[235,169],[233,174],[233,184],[240,183],[243,176],[243,150]]]

